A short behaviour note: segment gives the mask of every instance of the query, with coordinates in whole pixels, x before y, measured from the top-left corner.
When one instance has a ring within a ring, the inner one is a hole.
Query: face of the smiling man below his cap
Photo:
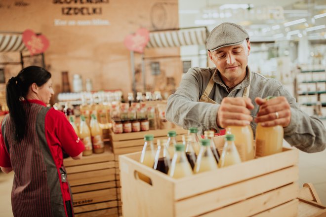
[[[250,42],[245,40],[239,45],[222,47],[213,52],[208,51],[208,55],[217,70],[221,72],[222,78],[232,81],[246,73],[249,52]]]

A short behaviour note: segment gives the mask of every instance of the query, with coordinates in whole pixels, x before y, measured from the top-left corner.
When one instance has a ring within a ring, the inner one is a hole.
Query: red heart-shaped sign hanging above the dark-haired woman
[[[36,35],[32,30],[23,32],[23,42],[31,55],[44,53],[49,47],[49,40],[43,35]]]

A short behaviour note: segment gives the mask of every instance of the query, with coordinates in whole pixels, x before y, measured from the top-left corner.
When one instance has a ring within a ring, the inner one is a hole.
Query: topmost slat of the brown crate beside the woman
[[[71,166],[80,166],[83,164],[92,164],[106,161],[114,161],[114,154],[108,145],[105,145],[104,153],[92,154],[90,156],[83,156],[80,160],[74,160],[71,157],[64,159],[63,164],[66,169]]]

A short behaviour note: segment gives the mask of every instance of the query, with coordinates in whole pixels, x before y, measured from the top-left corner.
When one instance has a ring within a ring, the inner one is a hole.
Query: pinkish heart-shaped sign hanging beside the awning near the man
[[[137,30],[135,34],[128,35],[124,38],[124,45],[130,51],[143,53],[149,41],[149,31],[145,28]]]

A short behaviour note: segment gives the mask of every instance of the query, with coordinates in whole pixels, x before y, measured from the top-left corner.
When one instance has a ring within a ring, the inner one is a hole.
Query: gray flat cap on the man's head
[[[249,38],[249,35],[241,26],[235,23],[222,23],[210,32],[206,48],[212,52],[221,47],[241,44],[246,38]]]

